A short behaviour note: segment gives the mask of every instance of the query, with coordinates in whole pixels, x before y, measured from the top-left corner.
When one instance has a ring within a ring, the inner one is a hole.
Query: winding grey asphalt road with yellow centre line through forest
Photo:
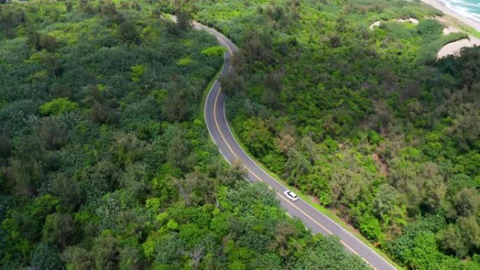
[[[237,51],[236,46],[232,41],[229,41],[225,36],[220,34],[215,29],[201,25],[194,22],[195,29],[205,30],[213,34],[218,39],[218,42],[225,50],[225,62],[220,72],[220,76],[227,75],[232,69],[230,58],[232,54]],[[298,199],[293,203],[283,196],[283,192],[287,189],[283,184],[277,182],[272,176],[266,173],[255,161],[252,160],[242,149],[238,142],[236,142],[232,130],[230,130],[227,118],[225,116],[225,95],[221,91],[220,81],[215,80],[212,88],[208,92],[205,102],[205,121],[213,141],[217,144],[220,153],[227,160],[228,163],[234,161],[241,161],[246,168],[248,174],[247,180],[251,182],[265,182],[271,189],[276,192],[276,197],[279,199],[281,206],[285,208],[288,214],[293,217],[298,217],[302,220],[305,226],[311,229],[314,233],[334,234],[340,238],[340,242],[345,245],[345,248],[359,255],[361,259],[369,264],[375,270],[395,270],[392,264],[389,264],[384,258],[378,255],[377,252],[361,242],[349,231],[340,227],[326,215],[319,212],[302,199]]]

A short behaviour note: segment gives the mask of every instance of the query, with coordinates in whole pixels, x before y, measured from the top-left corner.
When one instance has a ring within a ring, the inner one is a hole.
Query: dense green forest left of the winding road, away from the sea
[[[229,168],[213,36],[142,1],[0,5],[0,269],[368,269]]]

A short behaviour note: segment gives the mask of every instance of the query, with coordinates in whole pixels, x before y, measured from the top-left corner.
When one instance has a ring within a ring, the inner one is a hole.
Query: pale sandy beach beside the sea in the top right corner
[[[472,20],[461,14],[456,13],[455,11],[452,11],[450,8],[447,8],[443,3],[441,3],[441,1],[438,1],[438,0],[420,0],[420,1],[430,6],[433,6],[434,8],[445,13],[447,16],[454,18],[454,20],[456,19],[458,20],[458,22],[464,25],[468,25],[469,27],[472,27],[476,31],[480,32],[480,22],[476,22],[475,20]],[[439,20],[439,22],[446,25],[447,28],[444,29],[444,34],[450,34],[452,32],[461,31],[457,27],[453,26],[452,20],[449,20],[448,18],[437,17],[436,20]],[[468,39],[461,39],[459,41],[446,44],[444,47],[442,47],[439,50],[439,52],[436,54],[436,57],[443,58],[446,55],[455,55],[460,52],[461,48],[472,47],[472,46],[480,46],[480,39],[477,39],[476,37],[470,35]]]

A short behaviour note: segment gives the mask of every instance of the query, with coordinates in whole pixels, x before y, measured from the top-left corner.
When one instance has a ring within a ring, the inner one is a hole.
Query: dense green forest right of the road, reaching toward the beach
[[[407,269],[480,269],[480,48],[435,59],[465,34],[415,1],[187,2],[241,47],[222,82],[253,156]]]

